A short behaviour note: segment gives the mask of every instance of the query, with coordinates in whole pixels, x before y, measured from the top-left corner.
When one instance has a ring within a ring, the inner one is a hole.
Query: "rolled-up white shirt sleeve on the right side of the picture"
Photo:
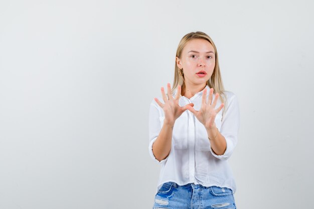
[[[227,101],[229,104],[223,116],[220,128],[221,135],[223,135],[226,139],[226,151],[222,155],[217,155],[211,148],[212,154],[218,159],[222,160],[227,160],[231,156],[238,142],[238,132],[240,127],[240,110],[238,99],[235,94],[231,92],[230,94],[231,96]]]

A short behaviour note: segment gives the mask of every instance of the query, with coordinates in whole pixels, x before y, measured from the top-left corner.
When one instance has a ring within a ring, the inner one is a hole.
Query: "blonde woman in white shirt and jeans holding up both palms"
[[[227,159],[238,140],[239,106],[225,91],[214,42],[202,32],[179,43],[173,89],[149,109],[149,154],[161,164],[153,208],[236,208]]]

